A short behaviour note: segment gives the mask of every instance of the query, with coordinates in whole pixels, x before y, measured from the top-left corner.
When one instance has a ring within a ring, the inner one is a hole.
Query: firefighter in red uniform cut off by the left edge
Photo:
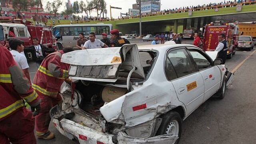
[[[34,116],[40,112],[40,98],[4,46],[0,46],[0,67],[0,144],[36,144],[32,112]]]

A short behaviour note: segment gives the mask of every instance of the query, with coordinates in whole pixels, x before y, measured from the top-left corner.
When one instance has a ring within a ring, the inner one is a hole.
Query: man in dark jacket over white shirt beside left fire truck
[[[47,48],[46,46],[40,44],[38,38],[33,38],[32,42],[34,45],[30,46],[30,49],[33,50],[33,60],[38,64],[41,64],[48,54],[56,51],[53,48]]]

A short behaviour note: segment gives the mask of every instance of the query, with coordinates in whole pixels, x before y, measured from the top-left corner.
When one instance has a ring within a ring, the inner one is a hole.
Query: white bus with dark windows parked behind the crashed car
[[[108,34],[112,24],[62,24],[54,26],[53,35],[56,37],[58,49],[63,46],[76,46],[76,41],[79,39],[79,33],[83,32],[84,37],[89,39],[89,34],[94,32],[97,39],[102,39],[102,33]]]

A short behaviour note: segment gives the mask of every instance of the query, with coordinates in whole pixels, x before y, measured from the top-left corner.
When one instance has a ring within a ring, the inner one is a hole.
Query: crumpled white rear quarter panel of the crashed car
[[[126,122],[126,127],[130,128],[148,122],[176,106],[183,106],[172,83],[166,79],[163,65],[164,58],[160,56],[148,80],[140,88],[133,85],[132,92],[102,106],[100,112],[106,121],[122,120]],[[146,104],[146,108],[133,109],[142,104]]]

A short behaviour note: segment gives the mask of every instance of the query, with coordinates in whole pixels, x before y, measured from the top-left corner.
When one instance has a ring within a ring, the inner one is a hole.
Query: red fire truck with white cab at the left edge
[[[32,39],[38,38],[39,43],[57,49],[56,40],[52,36],[49,26],[33,24],[28,20],[13,19],[11,17],[0,17],[0,44],[4,44],[6,38],[17,38],[24,41],[24,54],[28,60],[33,60],[34,49]]]

